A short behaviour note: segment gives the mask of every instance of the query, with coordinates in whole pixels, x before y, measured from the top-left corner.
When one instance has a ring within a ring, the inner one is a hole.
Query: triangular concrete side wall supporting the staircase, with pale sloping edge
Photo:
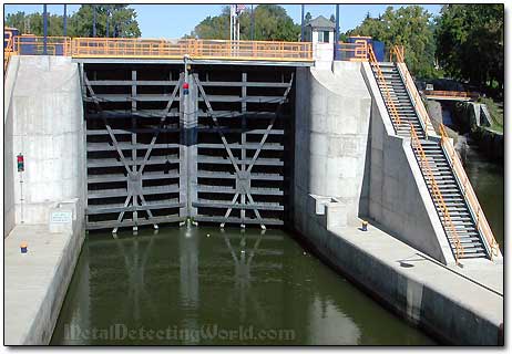
[[[401,241],[444,264],[452,264],[450,244],[410,140],[395,135],[371,69],[368,63],[362,67],[372,98],[368,216]]]

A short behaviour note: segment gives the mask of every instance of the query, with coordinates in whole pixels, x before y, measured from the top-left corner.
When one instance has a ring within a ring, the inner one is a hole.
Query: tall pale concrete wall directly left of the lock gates
[[[47,223],[49,209],[55,202],[84,200],[84,127],[78,64],[64,56],[13,59],[19,60],[19,69],[7,116],[7,122],[12,122],[12,133],[6,142],[9,145],[12,139],[12,150],[6,153],[6,166],[12,164],[16,168],[16,155],[21,153],[25,170],[22,176],[14,171],[13,185],[6,185],[6,189],[13,189],[17,225]]]

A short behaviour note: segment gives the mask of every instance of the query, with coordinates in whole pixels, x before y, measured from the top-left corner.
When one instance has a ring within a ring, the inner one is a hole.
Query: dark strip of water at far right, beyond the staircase
[[[503,252],[504,246],[504,168],[490,162],[478,148],[468,149],[465,173],[479,198],[494,238]]]

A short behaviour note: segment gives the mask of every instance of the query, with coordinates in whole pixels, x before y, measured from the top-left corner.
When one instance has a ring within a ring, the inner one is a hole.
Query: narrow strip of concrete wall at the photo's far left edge
[[[6,238],[16,223],[14,212],[14,174],[12,92],[18,75],[19,56],[12,56],[3,81],[3,237]]]

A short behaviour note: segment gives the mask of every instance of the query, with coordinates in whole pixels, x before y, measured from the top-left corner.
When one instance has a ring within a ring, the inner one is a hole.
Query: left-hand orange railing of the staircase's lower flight
[[[418,134],[416,133],[412,124],[410,124],[410,131],[411,131],[412,149],[414,150],[416,156],[418,156],[419,158],[419,165],[420,165],[421,170],[423,171],[423,174],[427,175],[426,176],[427,185],[430,185],[431,195],[437,204],[437,207],[441,211],[442,223],[446,229],[450,230],[452,241],[455,246],[455,250],[454,250],[455,261],[457,263],[459,263],[459,259],[462,258],[462,256],[464,254],[464,250],[460,242],[459,235],[457,233],[455,226],[453,225],[453,221],[450,217],[450,212],[448,211],[448,207],[447,207],[447,204],[444,202],[444,198],[442,197],[441,190],[439,189],[438,183],[436,181],[432,169],[430,168],[430,163],[427,158],[427,155],[424,154],[423,147],[421,146],[421,142],[418,138]]]

